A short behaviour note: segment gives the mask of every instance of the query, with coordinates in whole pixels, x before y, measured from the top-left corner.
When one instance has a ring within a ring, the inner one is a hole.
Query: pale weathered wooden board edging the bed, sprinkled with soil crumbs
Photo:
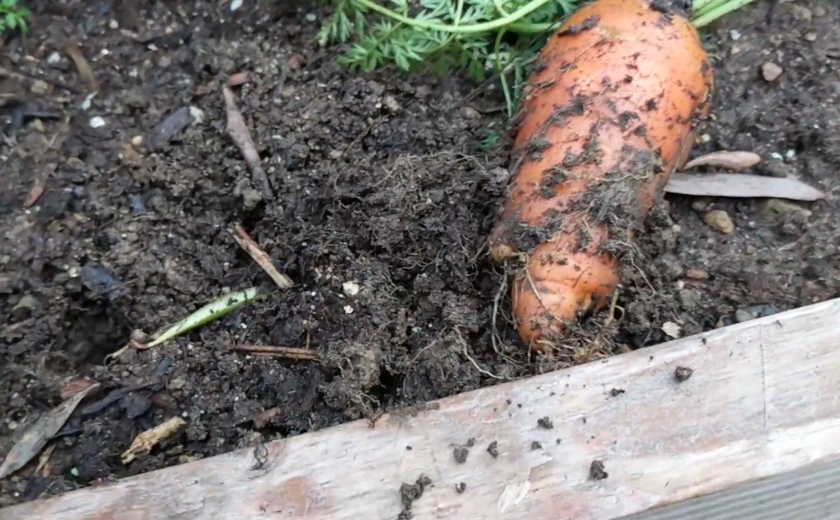
[[[372,428],[348,423],[8,507],[0,520],[395,519],[402,484],[421,475],[432,484],[412,504],[417,519],[609,520],[840,460],[838,347],[832,300]],[[675,381],[678,366],[690,379]],[[591,478],[593,460],[606,479]]]

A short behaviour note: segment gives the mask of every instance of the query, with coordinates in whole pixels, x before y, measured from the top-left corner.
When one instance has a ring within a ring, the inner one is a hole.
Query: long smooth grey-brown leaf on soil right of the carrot
[[[770,197],[798,201],[826,197],[825,193],[796,179],[743,173],[691,175],[678,172],[669,179],[665,192],[696,197]]]

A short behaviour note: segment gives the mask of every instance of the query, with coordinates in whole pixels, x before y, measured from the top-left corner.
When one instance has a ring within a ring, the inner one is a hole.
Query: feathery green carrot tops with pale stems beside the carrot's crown
[[[529,64],[549,34],[583,0],[320,0],[334,8],[318,43],[349,44],[339,63],[371,72],[394,65],[438,75],[465,72],[476,82],[497,76],[507,116],[517,105]],[[705,27],[755,0],[694,0],[692,22]],[[512,76],[512,77],[508,77]]]

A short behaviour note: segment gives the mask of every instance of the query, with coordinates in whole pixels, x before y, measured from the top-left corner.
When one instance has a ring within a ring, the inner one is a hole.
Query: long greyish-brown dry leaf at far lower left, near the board
[[[80,391],[75,396],[62,402],[57,407],[42,415],[30,428],[24,433],[24,436],[14,444],[13,448],[6,455],[3,460],[3,465],[0,465],[0,479],[6,478],[15,471],[24,467],[32,460],[33,457],[44,449],[46,444],[53,438],[55,433],[64,426],[67,419],[79,406],[79,403],[84,399],[88,392],[94,390],[99,385],[94,384],[88,386],[87,390]]]

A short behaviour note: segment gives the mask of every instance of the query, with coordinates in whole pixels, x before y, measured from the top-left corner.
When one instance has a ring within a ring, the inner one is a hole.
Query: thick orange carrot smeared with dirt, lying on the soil
[[[530,349],[549,349],[571,320],[606,307],[622,252],[687,160],[712,86],[689,19],[649,0],[585,4],[540,52],[490,240],[497,262],[522,260],[512,313]]]

